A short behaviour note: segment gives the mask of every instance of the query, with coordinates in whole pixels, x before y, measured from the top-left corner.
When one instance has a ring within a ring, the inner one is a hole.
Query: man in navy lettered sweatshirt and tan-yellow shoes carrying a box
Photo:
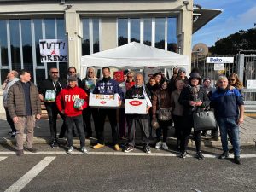
[[[102,67],[103,79],[99,80],[96,83],[96,87],[93,90],[94,94],[102,94],[102,95],[114,95],[118,93],[120,96],[119,99],[119,106],[122,103],[123,99],[123,91],[121,90],[119,83],[110,77],[110,68],[109,67]],[[116,109],[112,108],[99,108],[98,113],[98,124],[96,127],[96,137],[97,137],[97,144],[93,146],[94,149],[103,148],[105,146],[104,142],[104,125],[105,119],[108,116],[111,130],[112,130],[112,137],[113,137],[113,148],[117,151],[120,150],[119,143],[118,143],[118,126],[117,126],[117,119],[116,119]]]

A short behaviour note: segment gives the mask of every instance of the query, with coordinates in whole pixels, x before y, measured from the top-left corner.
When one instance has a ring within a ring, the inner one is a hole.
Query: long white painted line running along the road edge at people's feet
[[[0,152],[0,155],[16,154],[15,152]],[[83,154],[79,151],[73,151],[72,154],[67,154],[65,151],[38,151],[37,153],[24,152],[24,154],[44,154],[44,155],[117,155],[117,156],[154,156],[154,157],[177,157],[179,154],[175,153],[124,153],[124,152],[91,152]],[[205,158],[218,158],[220,154],[203,154]],[[195,154],[188,154],[187,157],[195,157]],[[230,154],[230,158],[234,155]],[[256,154],[241,154],[241,158],[256,158]]]

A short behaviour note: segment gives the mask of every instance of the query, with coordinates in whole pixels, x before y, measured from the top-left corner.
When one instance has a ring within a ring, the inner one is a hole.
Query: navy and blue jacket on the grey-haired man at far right
[[[238,106],[244,105],[239,90],[217,89],[211,96],[211,107],[214,108],[217,117],[238,117]]]

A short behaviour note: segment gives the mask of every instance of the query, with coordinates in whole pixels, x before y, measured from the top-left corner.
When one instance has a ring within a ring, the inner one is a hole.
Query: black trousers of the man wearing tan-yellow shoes
[[[116,120],[116,109],[99,109],[99,119],[98,124],[96,127],[96,137],[98,139],[98,143],[104,144],[104,125],[105,119],[108,116],[109,123],[111,125],[112,130],[112,138],[113,138],[113,145],[118,143],[118,127],[117,127],[117,120]]]

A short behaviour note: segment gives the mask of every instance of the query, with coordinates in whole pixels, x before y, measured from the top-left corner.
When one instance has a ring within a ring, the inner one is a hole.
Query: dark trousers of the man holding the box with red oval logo
[[[142,134],[143,144],[147,147],[149,145],[149,129],[148,129],[148,119],[132,119],[127,118],[128,124],[128,144],[135,145],[135,133],[137,125],[139,125]]]

